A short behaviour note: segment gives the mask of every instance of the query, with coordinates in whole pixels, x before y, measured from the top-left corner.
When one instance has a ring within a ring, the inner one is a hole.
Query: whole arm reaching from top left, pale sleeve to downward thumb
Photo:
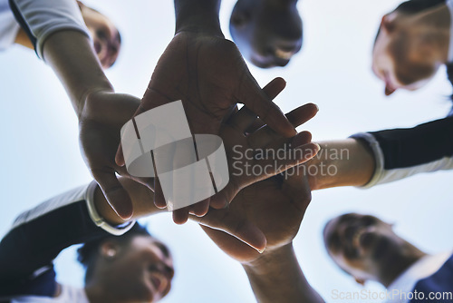
[[[119,143],[120,126],[130,119],[137,109],[130,112],[129,117],[120,116],[122,109],[118,102],[134,102],[137,98],[116,94],[111,83],[102,71],[101,63],[95,54],[90,34],[86,28],[79,5],[73,0],[10,0],[11,9],[22,25],[25,34],[34,45],[36,53],[50,65],[58,75],[68,93],[80,124],[92,122],[90,129],[81,127],[81,146],[84,160],[92,176],[101,186],[102,191],[121,217],[129,218],[132,214],[130,197],[117,180],[115,171],[125,174],[114,162],[114,152],[111,154],[111,142]],[[20,35],[24,41],[24,34]],[[26,41],[26,40],[25,40]],[[111,101],[114,99],[114,101]],[[111,103],[107,103],[111,101]],[[115,103],[116,102],[116,103]],[[92,119],[92,103],[103,114],[103,121]],[[102,106],[99,104],[102,103]],[[108,110],[107,110],[108,109]],[[102,125],[109,120],[109,125]],[[115,124],[115,125],[113,125]],[[119,124],[120,126],[117,126]],[[114,128],[118,139],[111,136]],[[100,133],[96,139],[102,142],[92,142],[92,132]],[[93,146],[96,146],[93,148]],[[115,149],[115,147],[113,147]]]

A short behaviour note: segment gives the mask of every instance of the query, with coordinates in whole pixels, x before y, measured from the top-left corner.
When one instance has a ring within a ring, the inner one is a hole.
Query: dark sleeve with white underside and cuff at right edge
[[[453,169],[453,117],[408,129],[362,132],[352,138],[367,142],[376,170],[364,187],[397,181],[420,172]]]

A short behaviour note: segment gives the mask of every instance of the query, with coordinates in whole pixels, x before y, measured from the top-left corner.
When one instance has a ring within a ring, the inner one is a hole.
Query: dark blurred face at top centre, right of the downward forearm
[[[285,66],[302,46],[296,1],[238,0],[230,32],[241,54],[261,68]]]

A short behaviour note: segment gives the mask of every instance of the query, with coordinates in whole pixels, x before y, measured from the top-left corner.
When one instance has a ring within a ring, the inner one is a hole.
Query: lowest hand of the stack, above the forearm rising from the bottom
[[[252,263],[262,255],[250,243],[246,245],[237,239],[234,234],[237,227],[246,224],[261,230],[266,239],[264,254],[267,254],[290,244],[304,219],[311,201],[310,187],[301,167],[290,171],[295,171],[294,175],[278,175],[240,191],[226,210],[211,209],[204,217],[191,218],[231,258]]]

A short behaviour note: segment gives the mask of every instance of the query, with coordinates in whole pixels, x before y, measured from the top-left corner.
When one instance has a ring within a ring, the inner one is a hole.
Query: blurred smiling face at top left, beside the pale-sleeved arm
[[[81,2],[82,17],[92,34],[93,47],[103,68],[109,68],[115,63],[120,53],[120,32],[109,18]]]

